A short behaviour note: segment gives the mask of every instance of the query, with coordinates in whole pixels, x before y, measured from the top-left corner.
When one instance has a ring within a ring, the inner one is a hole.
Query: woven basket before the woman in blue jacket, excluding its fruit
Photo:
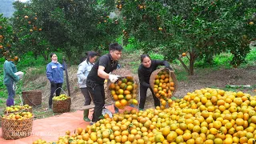
[[[53,100],[53,112],[54,113],[66,113],[70,111],[71,98],[62,101]]]

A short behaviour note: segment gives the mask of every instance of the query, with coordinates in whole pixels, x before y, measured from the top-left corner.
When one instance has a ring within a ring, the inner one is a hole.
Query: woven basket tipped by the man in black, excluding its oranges
[[[126,78],[127,76],[131,76],[134,79],[134,84],[138,85],[138,89],[136,91],[136,94],[137,94],[136,100],[139,99],[139,82],[138,82],[138,76],[137,75],[132,74],[130,72],[130,70],[123,69],[123,68],[114,70],[111,74],[119,75],[120,78],[118,78],[118,80]],[[118,80],[115,83],[117,83]],[[106,85],[105,85],[106,102],[107,103],[114,103],[115,102],[114,98],[112,97],[111,90],[109,89],[110,83],[111,83],[110,80],[108,80],[106,82]]]

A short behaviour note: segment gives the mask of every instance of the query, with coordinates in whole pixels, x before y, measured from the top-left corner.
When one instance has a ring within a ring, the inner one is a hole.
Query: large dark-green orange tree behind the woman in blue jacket
[[[16,3],[22,5],[21,2]],[[33,0],[24,5],[16,9],[15,13],[22,20],[18,22],[15,19],[14,24],[17,23],[15,27],[18,29],[26,24],[26,28],[23,28],[26,33],[22,37],[27,38],[26,46],[30,41],[35,43],[37,49],[30,49],[34,52],[45,51],[46,48],[62,50],[70,60],[76,60],[86,50],[105,50],[122,33],[118,18],[110,18],[114,2]],[[28,18],[25,18],[26,15]],[[30,26],[26,23],[28,21],[31,22]],[[35,26],[36,33],[33,30]],[[33,32],[30,32],[31,29]],[[43,46],[38,46],[39,43]]]

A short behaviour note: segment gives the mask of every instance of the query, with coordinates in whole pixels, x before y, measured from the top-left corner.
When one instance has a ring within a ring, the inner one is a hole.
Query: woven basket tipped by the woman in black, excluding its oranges
[[[150,75],[150,86],[151,88],[153,89],[154,88],[154,80],[155,80],[155,76],[161,71],[161,70],[169,70],[169,69],[166,69],[164,67],[162,68],[159,68],[158,70],[154,70],[153,73]],[[173,79],[173,82],[174,82],[174,91],[172,93],[172,96],[174,96],[175,92],[177,91],[177,87],[178,87],[178,81],[177,81],[177,78],[174,74],[174,71],[172,70],[169,70],[169,75],[170,75],[170,78]]]

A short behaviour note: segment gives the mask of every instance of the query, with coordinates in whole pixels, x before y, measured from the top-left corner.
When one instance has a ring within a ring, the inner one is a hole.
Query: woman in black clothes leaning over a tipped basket
[[[173,70],[167,61],[151,60],[148,54],[141,55],[141,65],[138,67],[138,78],[140,82],[139,110],[144,109],[146,102],[146,91],[148,88],[150,88],[150,91],[152,92],[154,106],[160,106],[159,99],[155,96],[153,89],[150,87],[150,75],[154,70],[157,70],[158,66],[166,66],[167,69]]]

